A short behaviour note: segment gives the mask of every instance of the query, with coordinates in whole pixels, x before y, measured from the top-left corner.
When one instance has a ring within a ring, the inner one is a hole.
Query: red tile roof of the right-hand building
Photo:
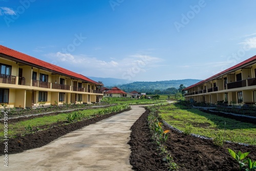
[[[220,76],[226,75],[228,72],[231,72],[231,71],[233,71],[233,70],[239,69],[239,67],[244,66],[244,65],[246,65],[247,63],[252,62],[252,61],[254,61],[254,60],[255,60],[255,62],[256,62],[256,55],[255,55],[255,56],[252,56],[252,57],[250,57],[249,59],[246,59],[246,60],[244,60],[244,61],[238,63],[237,65],[235,65],[235,66],[233,66],[233,67],[230,67],[230,68],[228,68],[228,69],[226,69],[226,70],[224,70],[224,71],[222,71],[222,72],[220,72],[220,73],[218,73],[218,74],[215,74],[214,76],[211,76],[211,77],[209,77],[209,78],[207,78],[207,79],[205,79],[205,80],[202,80],[202,81],[200,81],[200,82],[198,82],[198,83],[196,83],[196,84],[193,84],[193,85],[191,85],[191,86],[189,86],[189,87],[187,87],[187,88],[185,88],[185,89],[183,89],[183,90],[188,90],[188,89],[190,89],[190,88],[199,86],[200,84],[206,83],[206,82],[208,82],[208,81],[210,81],[210,80],[213,80],[213,79],[215,79],[215,78],[218,78],[218,77],[220,77]]]

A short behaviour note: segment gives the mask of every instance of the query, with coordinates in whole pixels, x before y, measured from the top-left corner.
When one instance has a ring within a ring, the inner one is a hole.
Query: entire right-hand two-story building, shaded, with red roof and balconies
[[[256,55],[183,89],[186,100],[215,104],[256,103]]]

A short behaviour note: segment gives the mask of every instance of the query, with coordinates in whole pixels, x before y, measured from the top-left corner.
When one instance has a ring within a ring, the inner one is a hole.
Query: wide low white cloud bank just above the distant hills
[[[44,56],[53,60],[50,63],[82,75],[114,78],[122,78],[123,73],[134,72],[135,70],[136,73],[133,75],[138,75],[158,67],[156,63],[162,60],[157,57],[140,54],[127,56],[122,59],[109,58],[109,60],[100,60],[87,55],[72,55],[62,52],[49,53]]]

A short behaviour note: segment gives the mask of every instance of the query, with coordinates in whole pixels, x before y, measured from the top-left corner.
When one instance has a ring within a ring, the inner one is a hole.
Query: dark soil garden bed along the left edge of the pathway
[[[130,110],[130,109],[129,109]],[[127,110],[124,110],[127,111]],[[121,111],[121,112],[124,112]],[[15,154],[23,152],[27,149],[38,148],[44,146],[51,141],[66,135],[72,131],[81,129],[84,126],[96,123],[103,119],[109,118],[121,112],[113,112],[107,115],[99,115],[91,119],[86,119],[78,122],[67,124],[67,122],[57,122],[47,126],[39,126],[33,134],[17,135],[15,138],[10,138],[8,141],[8,154]],[[39,116],[35,116],[39,117]],[[46,129],[46,127],[49,127]],[[41,130],[46,129],[46,130]],[[3,141],[0,142],[0,149],[4,149]],[[4,155],[4,150],[0,151],[0,155]]]

